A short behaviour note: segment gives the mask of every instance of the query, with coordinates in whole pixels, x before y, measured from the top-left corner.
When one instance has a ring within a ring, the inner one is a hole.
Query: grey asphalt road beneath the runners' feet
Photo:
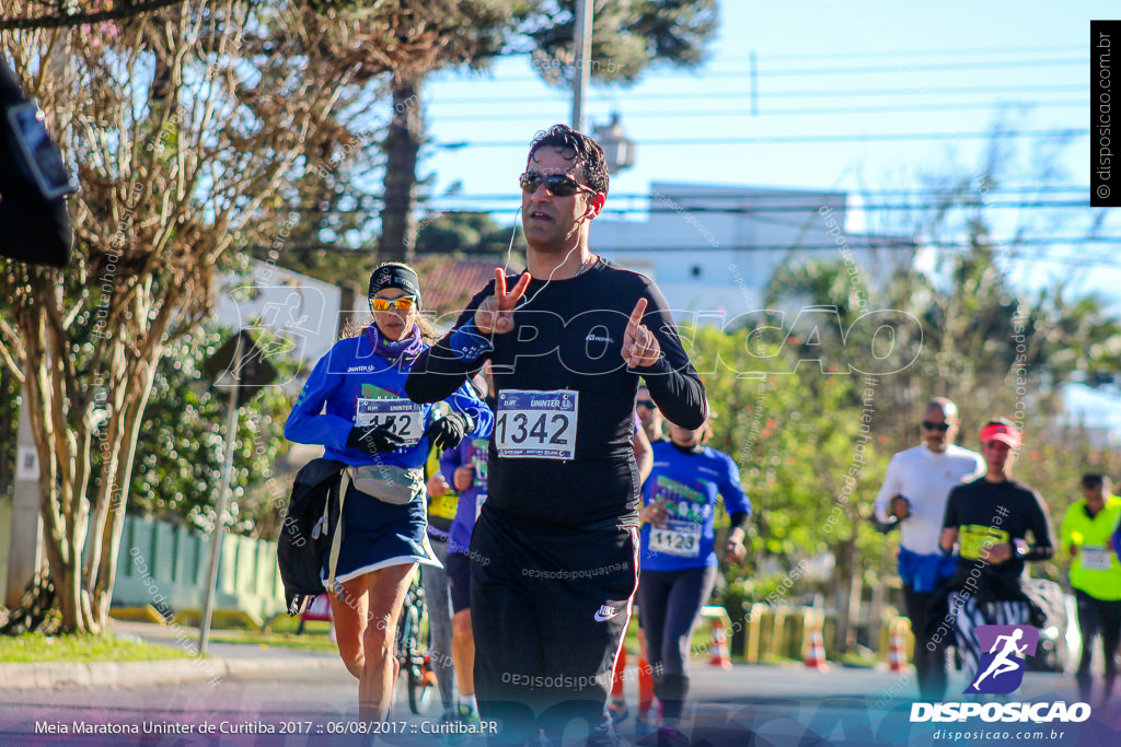
[[[404,681],[402,681],[404,682]],[[953,679],[951,693],[963,682]],[[1013,701],[1077,700],[1073,682],[1055,674],[1027,674]],[[636,702],[634,682],[628,698]],[[112,689],[62,688],[0,691],[2,745],[360,745],[371,736],[356,735],[356,684],[342,670],[300,672],[290,679],[235,680],[210,683]],[[732,671],[695,667],[692,716],[682,731],[688,744],[751,747],[812,747],[814,745],[1032,745],[1121,744],[1121,706],[1092,703],[1081,723],[916,722],[910,719],[914,683],[908,675],[834,667],[816,672],[798,666],[747,666]],[[947,700],[956,700],[955,694]],[[962,700],[966,700],[962,698]],[[395,709],[393,734],[387,745],[446,744],[432,734],[442,708],[426,717]],[[139,734],[89,734],[105,726]],[[54,729],[54,732],[50,732]],[[80,730],[85,729],[86,734]],[[147,731],[147,732],[146,732]],[[620,734],[633,741],[633,720]],[[578,744],[575,731],[564,746]],[[469,747],[481,740],[460,743]],[[643,743],[645,744],[645,743]],[[682,743],[684,744],[684,743]]]

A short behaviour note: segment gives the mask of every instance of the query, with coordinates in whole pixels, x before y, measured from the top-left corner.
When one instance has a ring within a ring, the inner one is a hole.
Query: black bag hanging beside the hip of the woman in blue
[[[323,553],[330,551],[339,529],[339,489],[345,468],[344,463],[334,459],[313,459],[293,483],[277,542],[285,604],[293,617],[325,591],[319,569]]]

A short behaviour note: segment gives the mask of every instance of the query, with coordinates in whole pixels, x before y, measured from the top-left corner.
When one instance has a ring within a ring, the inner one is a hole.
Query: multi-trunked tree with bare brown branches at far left
[[[137,435],[169,343],[209,314],[229,250],[262,236],[282,250],[295,185],[346,137],[324,123],[416,52],[385,36],[401,22],[388,22],[392,3],[379,12],[387,22],[297,0],[184,0],[9,37],[82,183],[71,268],[0,274],[0,357],[35,431],[63,629],[105,624]]]

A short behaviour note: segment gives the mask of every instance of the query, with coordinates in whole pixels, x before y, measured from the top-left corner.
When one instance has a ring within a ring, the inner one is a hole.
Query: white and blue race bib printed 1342
[[[578,392],[507,390],[499,393],[494,421],[500,457],[572,459],[576,455]]]

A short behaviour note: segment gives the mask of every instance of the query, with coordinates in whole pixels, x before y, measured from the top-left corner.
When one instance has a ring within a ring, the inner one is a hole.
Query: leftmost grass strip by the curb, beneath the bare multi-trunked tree
[[[174,646],[160,646],[111,635],[0,635],[0,662],[151,662],[187,659]]]

